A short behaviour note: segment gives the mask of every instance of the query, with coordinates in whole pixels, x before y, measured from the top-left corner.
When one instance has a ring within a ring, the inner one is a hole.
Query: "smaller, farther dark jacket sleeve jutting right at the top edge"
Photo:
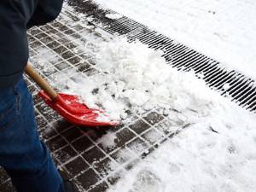
[[[61,12],[62,4],[63,0],[38,0],[38,6],[27,23],[27,28],[41,26],[55,20]]]

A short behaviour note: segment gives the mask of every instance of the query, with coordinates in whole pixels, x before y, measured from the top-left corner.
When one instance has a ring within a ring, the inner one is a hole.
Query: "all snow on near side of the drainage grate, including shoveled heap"
[[[124,172],[108,192],[255,191],[255,114],[209,90],[194,73],[167,66],[161,53],[146,45],[128,44],[122,38],[90,40],[89,44],[96,45],[94,67],[100,73],[80,76],[72,83],[59,77],[59,85],[80,93],[91,107],[101,106],[113,118],[125,119],[128,108],[162,108],[173,125],[180,121],[190,125],[187,129],[174,125],[182,131]],[[127,90],[132,93],[124,95]],[[173,126],[164,129],[172,132]],[[112,148],[115,138],[109,133],[100,143]],[[139,145],[133,147],[140,150]],[[120,158],[126,149],[119,152]],[[109,172],[113,170],[110,165]]]

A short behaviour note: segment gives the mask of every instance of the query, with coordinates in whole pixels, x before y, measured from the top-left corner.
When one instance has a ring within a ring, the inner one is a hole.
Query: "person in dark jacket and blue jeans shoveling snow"
[[[39,140],[32,96],[22,78],[28,61],[26,30],[55,20],[62,3],[0,1],[0,166],[18,192],[68,192]]]

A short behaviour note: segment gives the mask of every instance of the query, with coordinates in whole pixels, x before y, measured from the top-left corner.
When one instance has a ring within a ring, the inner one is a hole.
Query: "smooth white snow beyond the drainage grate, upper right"
[[[256,79],[253,0],[94,0]]]

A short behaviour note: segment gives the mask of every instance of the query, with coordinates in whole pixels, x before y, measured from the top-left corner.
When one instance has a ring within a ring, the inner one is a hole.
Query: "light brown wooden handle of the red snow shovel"
[[[55,98],[58,96],[56,91],[49,85],[49,83],[41,76],[39,73],[30,65],[26,65],[25,69],[26,74],[33,79],[42,90],[44,90],[49,97],[54,101]]]

